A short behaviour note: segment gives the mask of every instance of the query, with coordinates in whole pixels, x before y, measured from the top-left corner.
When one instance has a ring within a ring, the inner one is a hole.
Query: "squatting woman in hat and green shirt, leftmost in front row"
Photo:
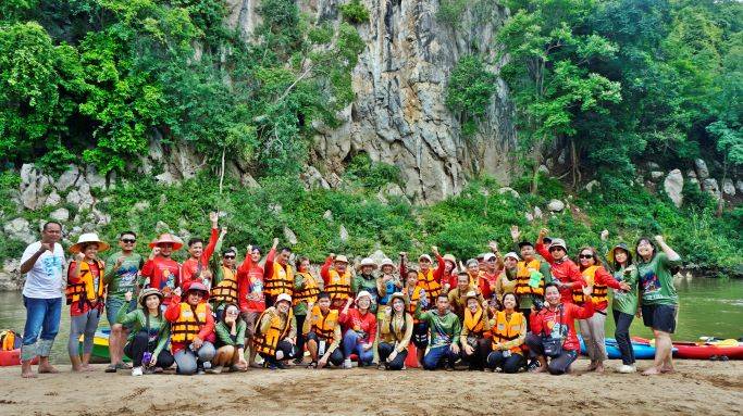
[[[132,294],[126,292],[125,299],[131,301]],[[124,353],[134,364],[132,376],[141,376],[145,374],[144,368],[152,373],[162,373],[175,362],[168,351],[171,325],[162,314],[161,303],[162,293],[158,289],[148,288],[139,292],[139,307],[132,312],[127,312],[127,307],[119,310],[116,322],[132,327],[124,345]]]

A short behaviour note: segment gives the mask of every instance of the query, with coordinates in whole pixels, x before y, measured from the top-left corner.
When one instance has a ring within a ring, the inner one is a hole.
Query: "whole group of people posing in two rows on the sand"
[[[91,370],[92,341],[106,312],[106,370],[131,368],[133,376],[173,365],[177,374],[194,375],[351,368],[354,361],[388,370],[467,366],[559,375],[570,371],[580,352],[575,322],[591,360],[587,370],[603,373],[609,288],[622,355],[617,370],[636,370],[629,335],[635,316],[656,339],[655,362],[643,374],[673,370],[678,295],[671,269],[680,256],[660,236],[641,238],[634,249],[620,242],[608,250],[604,231],[600,250],[581,248],[571,260],[565,240],[547,237],[546,229],[532,242],[512,226],[513,251],[506,254],[491,242],[486,253],[462,264],[432,247],[433,256],[421,254],[414,263],[401,252],[397,264],[367,257],[357,267],[330,254],[318,274],[308,257],[278,249],[278,239],[264,257],[261,248],[248,245],[238,265],[237,249],[223,248],[227,229],[220,230],[218,218],[210,214],[207,241],[188,240],[182,264],[172,257],[184,247],[178,238],[159,236],[144,259],[133,231],[119,235],[119,250],[106,261],[110,244],[83,234],[67,249],[67,262],[59,243],[62,226],[47,223],[21,261],[27,311],[22,375],[35,376],[37,356],[39,373],[57,371],[49,355],[62,298],[70,305],[74,371]]]

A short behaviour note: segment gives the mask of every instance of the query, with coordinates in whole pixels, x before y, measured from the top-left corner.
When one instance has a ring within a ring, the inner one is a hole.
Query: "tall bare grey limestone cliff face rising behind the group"
[[[461,25],[471,29],[454,30],[436,18],[438,1],[362,3],[370,11],[370,22],[357,25],[367,43],[352,73],[357,99],[339,114],[339,128],[315,126],[310,163],[337,174],[350,156],[367,153],[372,161],[400,168],[405,194],[414,202],[434,202],[458,193],[470,173],[485,172],[508,182],[513,166],[507,154],[516,148],[516,134],[503,80],[498,78],[479,133],[467,140],[460,134],[458,116],[443,100],[449,73],[475,48],[494,62],[490,70],[497,74],[503,62],[496,60],[494,37],[506,17],[505,9],[487,8],[487,15],[479,16],[478,22],[475,13],[468,10]],[[299,4],[311,15],[339,18],[337,0]],[[236,9],[232,22],[249,14],[240,9],[235,17]],[[246,22],[250,24],[249,18]]]

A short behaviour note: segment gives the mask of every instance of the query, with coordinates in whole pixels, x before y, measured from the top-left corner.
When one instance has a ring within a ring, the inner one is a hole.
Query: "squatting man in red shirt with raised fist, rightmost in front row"
[[[557,239],[553,240],[553,243],[556,241]],[[591,287],[583,288],[586,302],[579,306],[562,300],[556,282],[545,286],[544,307],[537,312],[532,306],[531,332],[527,335],[525,341],[530,354],[540,363],[532,373],[549,371],[552,375],[561,375],[570,371],[570,365],[578,358],[581,350],[575,335],[575,319],[586,319],[593,315],[591,292]]]

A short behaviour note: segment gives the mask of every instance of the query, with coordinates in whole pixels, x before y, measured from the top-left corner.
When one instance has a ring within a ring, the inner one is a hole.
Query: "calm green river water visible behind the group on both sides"
[[[679,324],[673,339],[696,340],[701,336],[743,337],[743,280],[689,278],[676,282],[680,298]],[[20,292],[0,292],[0,329],[23,331],[25,310]],[[106,317],[101,327],[108,327]],[[607,319],[607,337],[612,337],[614,319]],[[653,338],[653,332],[635,319],[632,336]],[[52,362],[69,363],[66,342],[70,336],[70,310],[63,306],[60,333]]]

